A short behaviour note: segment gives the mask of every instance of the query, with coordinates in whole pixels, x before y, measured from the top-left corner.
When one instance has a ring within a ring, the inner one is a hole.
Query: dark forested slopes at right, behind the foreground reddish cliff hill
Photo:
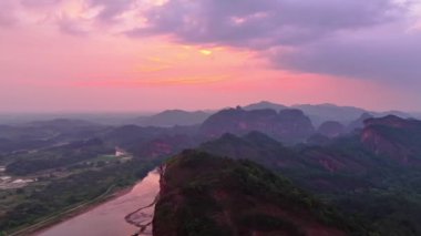
[[[387,141],[376,146],[384,152],[374,152],[359,135],[339,137],[325,146],[295,147],[264,137],[226,135],[203,144],[202,150],[253,160],[281,173],[349,215],[356,225],[368,226],[378,235],[421,235],[420,130],[386,125],[370,129]]]

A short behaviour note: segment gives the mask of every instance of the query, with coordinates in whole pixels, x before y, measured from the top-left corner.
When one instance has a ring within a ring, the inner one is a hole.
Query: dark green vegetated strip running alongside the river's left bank
[[[41,189],[25,191],[28,193],[24,194],[24,199],[0,216],[0,230],[10,232],[32,225],[72,206],[94,199],[112,187],[115,191],[131,186],[158,162],[133,160],[101,171],[88,171],[59,178]]]

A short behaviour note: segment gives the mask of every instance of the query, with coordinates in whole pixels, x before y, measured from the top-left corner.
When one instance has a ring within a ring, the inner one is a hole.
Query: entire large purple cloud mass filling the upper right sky
[[[421,35],[394,0],[170,0],[131,37],[259,50],[276,68],[388,81],[421,79]]]

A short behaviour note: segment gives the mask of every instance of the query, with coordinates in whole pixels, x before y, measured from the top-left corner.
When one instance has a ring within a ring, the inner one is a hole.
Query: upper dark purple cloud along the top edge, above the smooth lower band
[[[386,23],[403,11],[388,0],[171,0],[146,13],[148,28],[131,34],[173,33],[193,43],[266,49]]]

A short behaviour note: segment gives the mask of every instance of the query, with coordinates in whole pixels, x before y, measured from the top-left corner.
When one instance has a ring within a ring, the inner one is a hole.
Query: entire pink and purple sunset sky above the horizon
[[[421,0],[1,0],[0,112],[421,111]]]

